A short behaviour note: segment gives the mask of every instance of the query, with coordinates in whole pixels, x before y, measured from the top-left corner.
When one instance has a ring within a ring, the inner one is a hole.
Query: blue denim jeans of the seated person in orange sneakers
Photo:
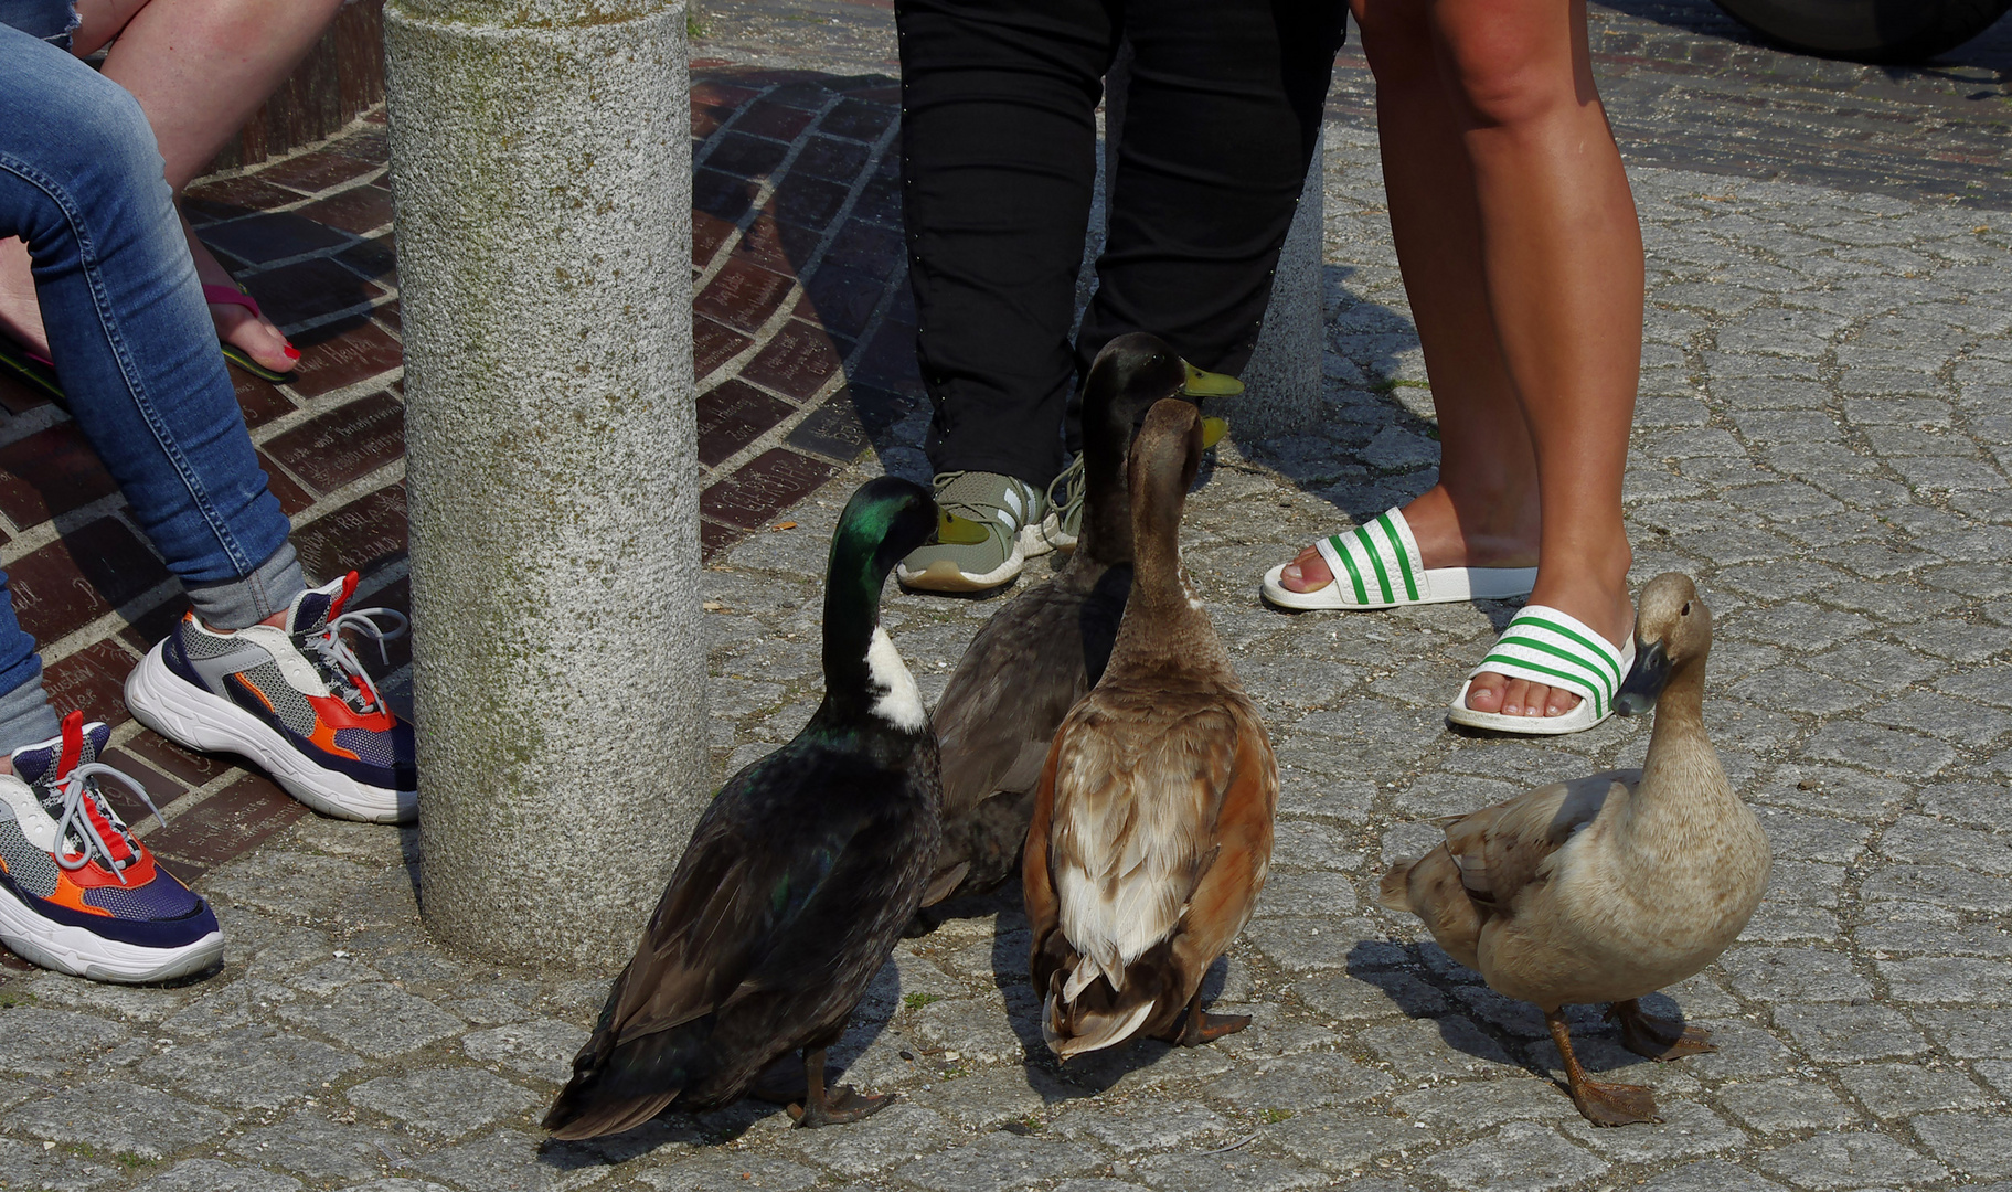
[[[153,129],[123,87],[10,26],[0,26],[0,236],[28,242],[70,417],[195,612],[213,628],[256,624],[304,582]],[[40,673],[34,638],[0,594],[0,749],[56,733]],[[48,731],[22,737],[26,721]]]

